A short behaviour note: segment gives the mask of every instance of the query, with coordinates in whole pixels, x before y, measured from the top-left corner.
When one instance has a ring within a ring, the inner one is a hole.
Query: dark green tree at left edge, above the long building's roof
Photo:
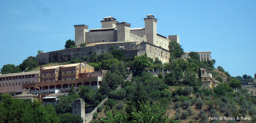
[[[5,64],[1,68],[1,74],[11,74],[21,72],[19,66],[15,66],[14,64]]]

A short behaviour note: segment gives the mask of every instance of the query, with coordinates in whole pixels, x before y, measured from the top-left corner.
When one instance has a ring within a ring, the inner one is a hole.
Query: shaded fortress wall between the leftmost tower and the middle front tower
[[[114,30],[111,31],[93,31],[85,33],[86,44],[104,41],[114,41]]]

